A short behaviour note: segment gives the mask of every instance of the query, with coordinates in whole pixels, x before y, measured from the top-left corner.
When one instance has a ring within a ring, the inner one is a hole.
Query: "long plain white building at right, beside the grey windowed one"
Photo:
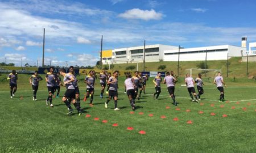
[[[204,61],[225,60],[228,57],[241,57],[246,54],[246,48],[232,45],[205,46],[199,48],[182,48],[164,50],[163,61]],[[180,57],[179,57],[180,56]]]

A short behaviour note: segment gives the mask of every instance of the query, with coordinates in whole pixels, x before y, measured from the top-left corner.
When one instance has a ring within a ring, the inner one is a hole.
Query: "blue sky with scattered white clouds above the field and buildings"
[[[95,65],[103,49],[256,42],[254,0],[0,1],[0,62]]]

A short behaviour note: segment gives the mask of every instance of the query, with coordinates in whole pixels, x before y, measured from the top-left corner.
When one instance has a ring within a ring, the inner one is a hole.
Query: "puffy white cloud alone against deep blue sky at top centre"
[[[139,8],[133,8],[127,10],[122,14],[118,15],[121,18],[125,19],[141,19],[141,20],[160,20],[163,17],[163,14],[156,12],[155,10],[141,10]]]

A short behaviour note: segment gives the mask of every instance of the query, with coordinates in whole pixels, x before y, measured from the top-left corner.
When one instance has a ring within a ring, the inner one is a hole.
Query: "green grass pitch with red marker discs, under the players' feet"
[[[146,95],[137,101],[131,114],[129,100],[119,78],[118,107],[113,100],[104,108],[97,80],[94,105],[82,101],[82,116],[67,116],[61,98],[46,105],[47,89],[40,82],[38,101],[32,101],[29,75],[19,75],[18,91],[10,99],[5,75],[1,79],[0,152],[255,152],[256,83],[249,79],[225,79],[226,103],[219,103],[219,92],[205,80],[205,94],[199,104],[189,99],[183,79],[175,87],[178,106],[171,104],[165,84],[159,100],[152,98],[154,86],[147,82]],[[83,79],[83,76],[81,76]],[[64,93],[61,88],[61,94]],[[85,84],[80,82],[80,93]],[[105,94],[106,96],[106,94]],[[81,96],[82,99],[82,96]],[[73,106],[72,106],[73,107]],[[74,107],[73,107],[74,108]],[[212,115],[214,113],[214,115]],[[148,116],[152,114],[151,116]],[[226,115],[226,117],[223,115]],[[86,117],[90,115],[90,117]],[[96,120],[98,118],[98,120]],[[103,123],[103,120],[108,122]],[[190,124],[189,124],[190,123]],[[118,124],[118,126],[113,126]],[[133,130],[127,130],[133,127]],[[139,131],[146,134],[139,134]]]

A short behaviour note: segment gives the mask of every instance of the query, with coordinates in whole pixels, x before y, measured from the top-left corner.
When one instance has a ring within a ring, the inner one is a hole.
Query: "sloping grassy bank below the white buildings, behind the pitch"
[[[189,62],[180,62],[180,75],[183,76],[187,71],[186,69],[198,68],[196,65],[202,61],[189,61]],[[204,61],[203,61],[204,62]],[[229,59],[229,77],[236,78],[246,77],[246,62],[242,62],[241,57],[232,57]],[[207,61],[209,69],[221,69],[223,76],[227,74],[227,61]],[[137,63],[123,63],[123,64],[114,64],[114,70],[125,70],[127,66],[135,66],[137,69]],[[166,65],[164,71],[174,70],[177,73],[177,62],[146,62],[145,68],[146,71],[157,71],[159,65]],[[138,70],[143,70],[143,63],[138,64]],[[249,76],[256,76],[255,62],[249,62]]]

